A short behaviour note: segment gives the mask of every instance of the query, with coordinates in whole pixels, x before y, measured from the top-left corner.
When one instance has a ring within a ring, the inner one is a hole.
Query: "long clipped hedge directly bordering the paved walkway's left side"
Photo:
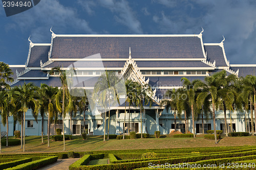
[[[39,167],[44,167],[46,165],[49,165],[51,163],[54,163],[58,160],[57,156],[50,156],[44,159],[39,159],[35,160],[32,162],[20,164],[11,168],[7,168],[6,170],[17,170],[17,169],[22,169],[22,170],[31,170],[31,169],[38,169]]]

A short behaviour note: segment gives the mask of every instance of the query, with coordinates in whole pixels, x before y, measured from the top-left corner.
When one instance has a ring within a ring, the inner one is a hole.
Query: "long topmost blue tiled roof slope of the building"
[[[201,39],[191,37],[55,37],[51,58],[204,58]]]

